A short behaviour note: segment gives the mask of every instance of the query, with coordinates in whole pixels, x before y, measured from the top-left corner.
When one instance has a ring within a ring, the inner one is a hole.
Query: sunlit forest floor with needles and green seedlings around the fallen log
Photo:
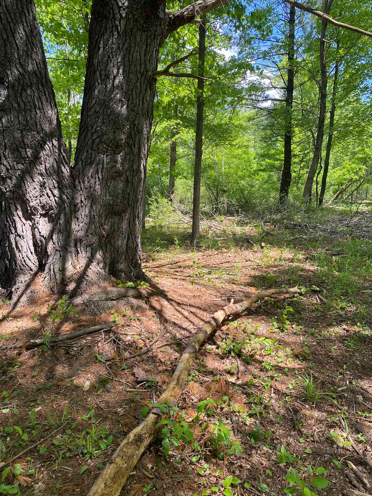
[[[196,328],[231,299],[281,286],[302,294],[261,301],[202,347],[174,416],[186,438],[171,433],[167,455],[153,443],[121,494],[372,494],[372,243],[220,218],[190,250],[188,231],[144,233],[143,267],[161,291],[139,306],[53,324],[52,296],[11,312],[2,302],[0,495],[87,494]],[[102,322],[115,325],[49,343]],[[42,347],[10,346],[40,336]]]

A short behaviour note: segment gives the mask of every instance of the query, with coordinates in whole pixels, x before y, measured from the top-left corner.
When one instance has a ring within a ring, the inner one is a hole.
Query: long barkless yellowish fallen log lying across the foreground
[[[224,307],[211,315],[209,320],[195,332],[187,343],[168,387],[158,400],[158,403],[175,404],[184,388],[192,362],[200,346],[207,341],[213,332],[220,328],[221,324],[226,323],[228,317],[241,315],[263,298],[283,294],[300,294],[300,290],[298,288],[270,289],[262,293],[256,293],[242,303]],[[153,409],[146,419],[125,437],[92,486],[88,496],[119,495],[132,468],[160,431],[159,428],[156,428],[157,424],[166,416],[167,414],[160,413],[159,409]]]

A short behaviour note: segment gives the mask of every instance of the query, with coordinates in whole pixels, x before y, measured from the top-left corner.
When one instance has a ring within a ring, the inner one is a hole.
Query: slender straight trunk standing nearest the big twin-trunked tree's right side
[[[197,81],[197,111],[195,136],[194,187],[192,200],[191,245],[195,245],[200,234],[200,180],[203,156],[203,119],[204,119],[204,62],[205,62],[205,22],[199,23],[199,76]]]

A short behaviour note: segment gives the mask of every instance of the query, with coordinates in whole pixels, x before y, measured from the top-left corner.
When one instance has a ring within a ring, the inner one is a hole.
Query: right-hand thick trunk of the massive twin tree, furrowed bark
[[[75,154],[75,291],[143,278],[141,214],[164,1],[93,0]]]

